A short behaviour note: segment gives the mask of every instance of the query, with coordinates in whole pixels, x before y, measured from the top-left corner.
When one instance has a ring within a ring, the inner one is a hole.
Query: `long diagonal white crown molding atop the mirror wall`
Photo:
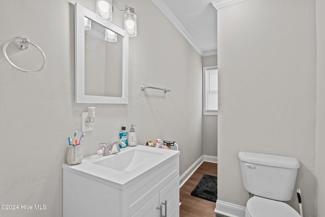
[[[202,56],[203,51],[194,43],[190,35],[186,32],[183,25],[179,22],[173,12],[167,7],[164,1],[160,0],[151,0],[158,9],[165,14],[165,16],[172,22],[180,34],[188,41],[188,43]],[[243,0],[242,0],[243,1]]]

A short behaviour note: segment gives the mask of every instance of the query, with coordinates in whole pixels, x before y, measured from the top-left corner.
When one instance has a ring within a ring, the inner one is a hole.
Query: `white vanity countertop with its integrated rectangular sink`
[[[63,164],[62,168],[124,189],[140,176],[145,176],[147,171],[154,167],[164,167],[166,162],[178,155],[179,151],[176,150],[137,145],[122,148],[110,156],[86,157],[77,165]]]

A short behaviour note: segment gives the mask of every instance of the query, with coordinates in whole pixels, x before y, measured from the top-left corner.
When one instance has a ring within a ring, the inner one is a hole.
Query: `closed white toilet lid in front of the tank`
[[[286,203],[254,196],[247,201],[246,212],[251,217],[301,217]]]

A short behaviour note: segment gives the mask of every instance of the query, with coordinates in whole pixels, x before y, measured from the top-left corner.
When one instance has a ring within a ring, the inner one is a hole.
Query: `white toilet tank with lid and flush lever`
[[[244,188],[273,200],[292,198],[300,163],[296,158],[241,151],[238,153]]]

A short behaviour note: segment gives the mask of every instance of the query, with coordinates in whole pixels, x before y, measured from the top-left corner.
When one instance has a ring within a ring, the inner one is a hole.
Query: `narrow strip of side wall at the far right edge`
[[[317,178],[317,216],[325,213],[325,2],[316,0],[316,42],[317,42],[317,71],[316,71],[316,151],[315,166]]]

